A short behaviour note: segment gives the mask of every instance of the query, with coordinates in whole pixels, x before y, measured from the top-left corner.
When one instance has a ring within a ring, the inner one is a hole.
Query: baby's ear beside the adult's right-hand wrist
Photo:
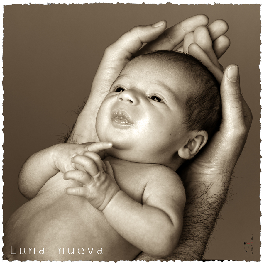
[[[198,153],[198,151],[205,145],[208,139],[208,134],[206,131],[193,131],[192,139],[189,142],[178,150],[178,155],[185,159],[189,160]]]

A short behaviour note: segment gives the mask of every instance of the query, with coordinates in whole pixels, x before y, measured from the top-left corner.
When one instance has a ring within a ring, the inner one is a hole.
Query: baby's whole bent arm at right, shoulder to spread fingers
[[[185,190],[180,178],[168,167],[148,167],[140,204],[119,189],[109,162],[104,170],[103,162],[98,157],[95,160],[95,155],[73,158],[88,173],[67,172],[65,179],[77,180],[83,187],[67,188],[65,192],[85,197],[123,238],[140,250],[152,256],[169,255],[182,231]]]

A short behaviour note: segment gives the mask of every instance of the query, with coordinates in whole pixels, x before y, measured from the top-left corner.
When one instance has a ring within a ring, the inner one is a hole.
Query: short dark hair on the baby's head
[[[207,67],[193,56],[174,50],[157,50],[140,57],[169,63],[174,69],[176,66],[177,73],[182,73],[188,86],[194,88],[187,89],[183,124],[191,131],[205,130],[211,138],[219,130],[222,114],[220,85]]]

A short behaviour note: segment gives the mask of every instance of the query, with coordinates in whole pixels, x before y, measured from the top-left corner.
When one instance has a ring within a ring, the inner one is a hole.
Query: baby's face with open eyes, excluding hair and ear
[[[185,82],[163,63],[135,59],[121,71],[101,104],[96,131],[113,142],[110,155],[167,164],[188,142],[184,121]]]

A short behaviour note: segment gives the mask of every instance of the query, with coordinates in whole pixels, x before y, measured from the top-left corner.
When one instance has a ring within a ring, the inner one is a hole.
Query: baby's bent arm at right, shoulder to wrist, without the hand
[[[119,191],[103,212],[123,238],[151,256],[162,257],[172,253],[180,239],[185,190],[170,168],[153,166],[145,175],[142,204]]]

